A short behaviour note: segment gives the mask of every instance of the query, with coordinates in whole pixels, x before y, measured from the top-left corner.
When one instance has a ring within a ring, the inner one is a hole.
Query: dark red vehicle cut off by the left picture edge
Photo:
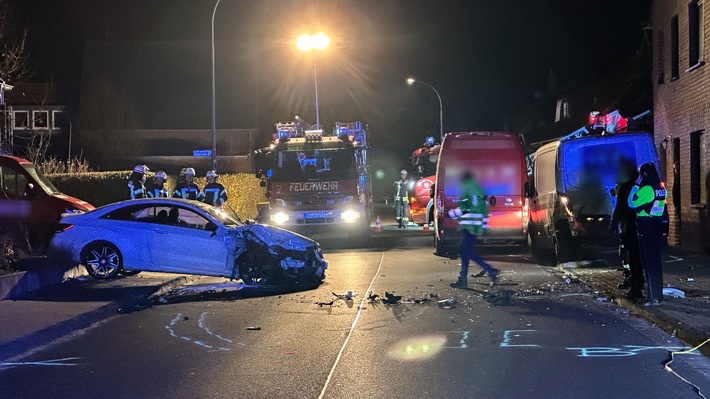
[[[25,230],[33,247],[49,242],[62,213],[92,209],[59,192],[32,162],[0,155],[0,224]]]

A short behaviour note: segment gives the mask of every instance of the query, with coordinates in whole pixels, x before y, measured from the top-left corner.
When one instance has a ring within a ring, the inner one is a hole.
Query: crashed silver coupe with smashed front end
[[[98,279],[122,271],[200,274],[245,284],[320,282],[328,262],[317,242],[243,223],[198,201],[150,198],[64,214],[50,248]]]

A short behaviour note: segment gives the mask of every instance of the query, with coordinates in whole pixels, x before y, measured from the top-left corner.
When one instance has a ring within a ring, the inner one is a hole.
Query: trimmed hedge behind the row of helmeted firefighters
[[[47,178],[59,191],[81,198],[95,207],[128,199],[126,188],[131,171],[61,173],[47,175]],[[153,178],[148,173],[147,182]],[[168,176],[168,189],[175,187],[175,176]],[[266,201],[264,189],[259,187],[259,179],[252,174],[238,173],[220,175],[218,181],[227,190],[227,205],[237,211],[242,219],[254,219],[257,215],[256,204]],[[195,183],[204,187],[206,179],[196,177]],[[146,184],[147,185],[147,184]]]

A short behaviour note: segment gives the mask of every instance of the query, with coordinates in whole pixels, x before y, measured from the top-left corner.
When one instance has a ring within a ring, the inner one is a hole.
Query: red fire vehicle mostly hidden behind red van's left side
[[[412,152],[412,183],[409,187],[409,220],[425,225],[434,221],[434,198],[431,189],[436,183],[436,162],[441,144],[427,137],[424,146]]]

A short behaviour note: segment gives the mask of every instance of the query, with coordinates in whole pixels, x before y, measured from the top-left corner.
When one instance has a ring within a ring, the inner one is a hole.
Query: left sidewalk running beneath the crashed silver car
[[[0,368],[23,353],[140,309],[151,296],[188,279],[141,273],[107,282],[88,277],[83,268],[64,272],[47,265],[0,276]]]

